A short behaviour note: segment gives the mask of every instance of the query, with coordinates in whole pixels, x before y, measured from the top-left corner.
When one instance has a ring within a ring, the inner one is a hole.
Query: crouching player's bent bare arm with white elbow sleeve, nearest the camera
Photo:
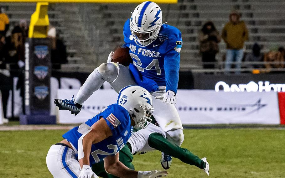
[[[90,164],[89,156],[91,152],[91,145],[108,138],[112,135],[112,132],[106,121],[101,118],[99,121],[97,121],[91,126],[91,130],[86,130],[85,134],[81,134],[82,136],[78,140],[78,160],[80,163],[80,167],[82,168],[83,165]]]

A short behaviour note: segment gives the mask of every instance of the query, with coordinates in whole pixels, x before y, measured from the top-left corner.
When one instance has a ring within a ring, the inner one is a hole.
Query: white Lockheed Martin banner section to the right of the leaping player
[[[179,90],[176,107],[182,124],[280,124],[276,92]]]

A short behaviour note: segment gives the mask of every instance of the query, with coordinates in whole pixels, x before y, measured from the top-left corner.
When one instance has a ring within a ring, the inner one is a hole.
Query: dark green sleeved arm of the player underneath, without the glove
[[[200,169],[205,168],[205,162],[202,161],[198,156],[191,153],[188,149],[181,148],[175,144],[170,143],[159,133],[152,133],[148,136],[148,144],[150,147],[164,152],[174,158],[178,158],[182,162],[195,165]]]

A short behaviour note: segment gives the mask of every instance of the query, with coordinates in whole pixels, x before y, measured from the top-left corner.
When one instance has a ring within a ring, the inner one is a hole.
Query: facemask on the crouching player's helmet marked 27
[[[153,111],[153,108],[150,108],[145,104],[141,105],[139,108],[134,108],[131,114],[132,119],[135,121],[134,128],[146,128],[152,121],[151,116]]]

